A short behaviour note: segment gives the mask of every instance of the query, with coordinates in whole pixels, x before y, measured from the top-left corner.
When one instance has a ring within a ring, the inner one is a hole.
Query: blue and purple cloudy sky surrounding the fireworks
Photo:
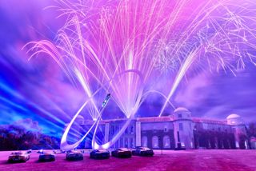
[[[53,40],[64,23],[63,18],[56,18],[56,10],[44,9],[50,2],[0,2],[0,125],[28,125],[26,119],[30,118],[31,128],[39,125],[44,133],[54,134],[62,130],[86,99],[82,88],[74,86],[53,60],[40,57],[28,61],[26,50],[22,50],[30,41]],[[171,86],[160,81],[162,84]],[[203,72],[184,78],[171,101],[175,107],[190,109],[194,117],[223,120],[237,113],[248,123],[256,121],[255,87],[256,67],[248,63],[236,76],[230,72]],[[158,116],[163,102],[160,96],[150,96],[138,115]],[[168,107],[166,112],[172,110]],[[118,113],[114,106],[107,111]]]

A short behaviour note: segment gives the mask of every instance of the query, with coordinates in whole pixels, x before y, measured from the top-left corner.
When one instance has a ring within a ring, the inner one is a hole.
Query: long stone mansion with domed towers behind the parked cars
[[[98,139],[110,141],[122,128],[124,119],[100,122]],[[82,131],[90,122],[78,118]],[[91,148],[90,136],[83,142]],[[170,116],[134,118],[125,133],[112,148],[148,146],[152,149],[248,149],[246,126],[237,114],[230,114],[225,121],[191,117],[186,108],[174,110]]]

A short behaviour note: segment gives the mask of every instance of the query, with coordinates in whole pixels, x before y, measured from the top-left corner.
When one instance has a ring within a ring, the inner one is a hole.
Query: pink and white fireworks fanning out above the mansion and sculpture
[[[94,121],[100,117],[101,96],[92,96],[97,89],[110,92],[130,119],[146,98],[140,92],[154,90],[154,75],[170,75],[175,79],[161,116],[188,70],[235,75],[246,62],[255,65],[254,1],[60,0],[58,6],[67,20],[56,42],[30,42],[29,52],[31,58],[49,54],[71,82],[82,85]],[[142,76],[116,78],[127,70]]]

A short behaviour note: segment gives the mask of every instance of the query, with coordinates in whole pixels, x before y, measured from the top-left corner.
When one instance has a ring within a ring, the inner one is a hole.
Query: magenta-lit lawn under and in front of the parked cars
[[[256,150],[155,150],[154,153],[154,157],[94,160],[86,152],[83,161],[66,161],[66,154],[59,153],[56,161],[39,163],[38,153],[33,151],[26,163],[9,164],[6,159],[10,152],[0,152],[0,170],[256,170]]]

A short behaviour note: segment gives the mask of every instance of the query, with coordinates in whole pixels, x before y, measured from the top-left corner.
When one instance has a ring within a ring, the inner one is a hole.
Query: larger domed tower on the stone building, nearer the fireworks
[[[183,107],[174,110],[174,139],[175,147],[193,149],[194,134],[191,112]]]

